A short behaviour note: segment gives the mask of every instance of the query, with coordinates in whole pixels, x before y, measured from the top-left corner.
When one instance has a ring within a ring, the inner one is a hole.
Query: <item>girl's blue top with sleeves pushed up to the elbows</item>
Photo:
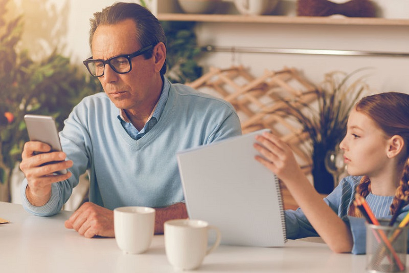
[[[360,176],[348,176],[340,181],[334,191],[324,201],[331,209],[343,219],[351,228],[354,241],[353,254],[365,254],[366,251],[366,225],[364,218],[348,216],[348,209],[355,199],[356,186],[359,184]],[[393,196],[379,196],[370,193],[365,199],[374,213],[375,217],[391,218],[390,206]],[[406,215],[409,205],[403,207],[398,220]],[[397,222],[399,222],[397,221]],[[296,211],[288,209],[285,211],[285,224],[288,239],[299,239],[304,237],[319,236],[312,227],[301,208]],[[408,243],[409,247],[409,243]]]

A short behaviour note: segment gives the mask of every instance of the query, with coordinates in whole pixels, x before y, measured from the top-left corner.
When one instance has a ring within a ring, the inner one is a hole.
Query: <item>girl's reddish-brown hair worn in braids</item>
[[[404,163],[403,173],[391,204],[391,214],[395,214],[400,200],[406,199],[403,201],[406,205],[409,196],[409,95],[387,92],[367,96],[356,103],[355,110],[370,117],[389,137],[399,135],[404,139],[404,156],[401,162]],[[363,176],[356,187],[356,193],[365,198],[370,192],[371,180],[368,176]],[[354,204],[351,204],[348,214],[362,217]]]

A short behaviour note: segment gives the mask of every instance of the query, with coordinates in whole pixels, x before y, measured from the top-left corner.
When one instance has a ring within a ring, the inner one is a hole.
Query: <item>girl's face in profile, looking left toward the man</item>
[[[367,115],[352,110],[347,135],[339,144],[348,173],[377,176],[387,168],[388,136]]]

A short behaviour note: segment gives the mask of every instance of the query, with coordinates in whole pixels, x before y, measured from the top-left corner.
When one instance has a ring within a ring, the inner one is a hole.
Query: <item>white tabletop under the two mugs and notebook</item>
[[[163,236],[149,250],[126,255],[115,239],[86,239],[64,227],[71,212],[30,215],[21,205],[0,202],[0,272],[175,272]],[[284,247],[219,246],[199,272],[365,272],[365,255],[335,254],[326,244],[289,240]]]

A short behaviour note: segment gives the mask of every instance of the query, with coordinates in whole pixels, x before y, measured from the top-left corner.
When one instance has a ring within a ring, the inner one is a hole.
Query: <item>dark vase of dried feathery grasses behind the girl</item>
[[[365,76],[353,78],[362,70],[326,74],[313,91],[317,97],[313,104],[285,101],[288,107],[282,111],[295,118],[309,136],[313,183],[319,193],[329,194],[334,188],[334,178],[325,166],[326,154],[335,150],[344,138],[349,112],[369,90],[363,81]]]

